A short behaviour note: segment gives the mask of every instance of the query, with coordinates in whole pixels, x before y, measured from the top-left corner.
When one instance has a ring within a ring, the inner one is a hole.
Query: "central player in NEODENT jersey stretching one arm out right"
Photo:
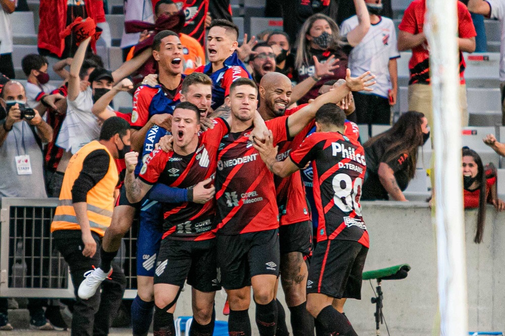
[[[349,88],[363,90],[372,85],[366,83],[366,75],[348,76],[347,85],[318,97],[314,106],[338,102],[347,95]],[[226,98],[232,122],[230,133],[222,139],[218,152],[216,246],[221,285],[228,293],[230,305],[228,331],[250,334],[247,310],[252,287],[260,334],[274,335],[278,312],[274,296],[280,264],[279,212],[273,175],[259,160],[258,152],[247,138],[258,103],[257,94],[256,84],[241,78],[231,84]],[[306,106],[291,116],[267,121],[267,128],[273,132],[273,142],[277,145],[296,136],[314,119],[314,114],[312,107]]]

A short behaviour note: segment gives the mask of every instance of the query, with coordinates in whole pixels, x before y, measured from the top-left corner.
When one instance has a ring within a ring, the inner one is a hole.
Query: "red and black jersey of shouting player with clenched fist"
[[[147,184],[163,183],[169,187],[193,188],[216,173],[216,156],[221,138],[229,132],[222,119],[214,128],[200,134],[195,152],[179,155],[155,150],[146,159],[139,178]],[[215,237],[215,200],[205,204],[193,202],[163,205],[165,234],[174,240],[206,240]]]

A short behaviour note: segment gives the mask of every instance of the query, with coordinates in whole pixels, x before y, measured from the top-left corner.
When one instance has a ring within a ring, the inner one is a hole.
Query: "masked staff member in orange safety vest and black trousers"
[[[121,304],[126,282],[120,265],[110,270],[102,293],[97,291],[82,300],[77,290],[85,272],[100,264],[100,244],[111,225],[114,189],[119,180],[114,159],[124,158],[129,151],[130,125],[112,117],[104,122],[98,141],[91,141],[75,153],[65,171],[51,232],[56,248],[69,264],[74,285],[77,303],[72,336],[107,335],[110,316]]]

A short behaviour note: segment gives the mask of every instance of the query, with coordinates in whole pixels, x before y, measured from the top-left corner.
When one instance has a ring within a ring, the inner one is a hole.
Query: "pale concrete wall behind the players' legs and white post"
[[[430,335],[437,315],[437,266],[435,231],[426,203],[363,202],[363,214],[370,233],[371,248],[365,270],[401,263],[412,266],[400,281],[384,281],[384,316],[391,335]],[[487,208],[484,239],[473,243],[477,210],[465,211],[468,274],[469,324],[472,331],[505,331],[505,213]],[[372,282],[374,288],[375,282]],[[279,290],[282,293],[282,290]],[[190,290],[179,299],[177,315],[190,315]],[[360,335],[375,334],[375,305],[369,282],[363,283],[362,300],[349,300],[346,314]],[[279,295],[281,302],[282,294]],[[218,319],[225,296],[217,294]],[[249,310],[255,328],[254,303]],[[289,311],[286,309],[289,324]],[[381,326],[383,334],[385,325]]]

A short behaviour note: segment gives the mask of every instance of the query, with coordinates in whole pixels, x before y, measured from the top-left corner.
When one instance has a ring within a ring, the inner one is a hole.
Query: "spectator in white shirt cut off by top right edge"
[[[500,89],[501,89],[501,125],[505,126],[505,2],[503,0],[469,0],[468,10],[500,21]]]

